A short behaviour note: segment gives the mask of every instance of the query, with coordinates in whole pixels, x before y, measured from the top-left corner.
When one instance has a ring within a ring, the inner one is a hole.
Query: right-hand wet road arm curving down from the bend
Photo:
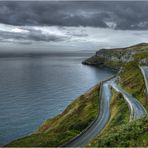
[[[115,80],[112,82],[111,86],[117,92],[120,92],[123,95],[124,99],[129,104],[129,107],[131,110],[130,120],[138,119],[141,116],[147,114],[147,111],[142,106],[142,104],[136,98],[134,98],[132,95],[128,94],[125,90],[123,90],[120,86],[118,86],[116,84]]]

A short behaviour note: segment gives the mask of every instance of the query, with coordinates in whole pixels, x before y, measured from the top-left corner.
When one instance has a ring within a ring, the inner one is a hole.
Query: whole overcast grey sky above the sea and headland
[[[0,52],[96,51],[148,42],[146,1],[0,1]]]

